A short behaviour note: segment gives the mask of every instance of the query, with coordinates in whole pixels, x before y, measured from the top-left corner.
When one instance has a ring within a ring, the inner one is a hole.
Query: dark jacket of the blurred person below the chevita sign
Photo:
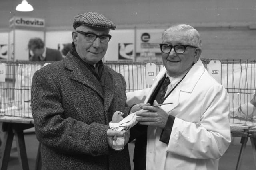
[[[44,61],[60,61],[63,57],[57,49],[46,48],[46,56]],[[41,61],[39,56],[30,57],[29,61]]]

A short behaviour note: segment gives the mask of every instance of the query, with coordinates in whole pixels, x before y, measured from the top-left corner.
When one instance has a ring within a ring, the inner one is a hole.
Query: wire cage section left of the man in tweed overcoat
[[[0,82],[0,115],[31,117],[31,82],[34,72],[44,62],[2,62],[5,64],[5,81]]]

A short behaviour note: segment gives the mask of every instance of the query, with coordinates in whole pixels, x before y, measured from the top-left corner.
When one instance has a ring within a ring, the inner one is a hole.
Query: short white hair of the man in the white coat
[[[186,36],[187,42],[190,43],[190,45],[201,47],[202,39],[200,38],[200,34],[192,26],[186,24],[176,24],[170,26],[162,33],[162,40],[170,33],[177,32],[184,32],[184,36]]]

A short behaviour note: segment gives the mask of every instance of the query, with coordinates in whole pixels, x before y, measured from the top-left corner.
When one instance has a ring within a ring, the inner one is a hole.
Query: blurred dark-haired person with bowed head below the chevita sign
[[[60,61],[63,59],[60,51],[57,49],[46,48],[40,38],[32,38],[28,42],[30,51],[29,61]]]

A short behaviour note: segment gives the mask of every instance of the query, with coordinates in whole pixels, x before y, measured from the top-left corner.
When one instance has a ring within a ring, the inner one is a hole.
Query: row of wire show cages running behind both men
[[[208,70],[212,60],[221,63],[220,83],[230,97],[230,124],[256,128],[256,60],[201,59]],[[0,114],[2,116],[32,117],[31,82],[34,72],[45,62],[4,62],[5,82],[0,82]],[[126,92],[150,88],[147,82],[146,62],[106,62],[126,80]],[[154,62],[156,75],[163,67],[162,62]],[[208,70],[209,71],[209,70]]]

